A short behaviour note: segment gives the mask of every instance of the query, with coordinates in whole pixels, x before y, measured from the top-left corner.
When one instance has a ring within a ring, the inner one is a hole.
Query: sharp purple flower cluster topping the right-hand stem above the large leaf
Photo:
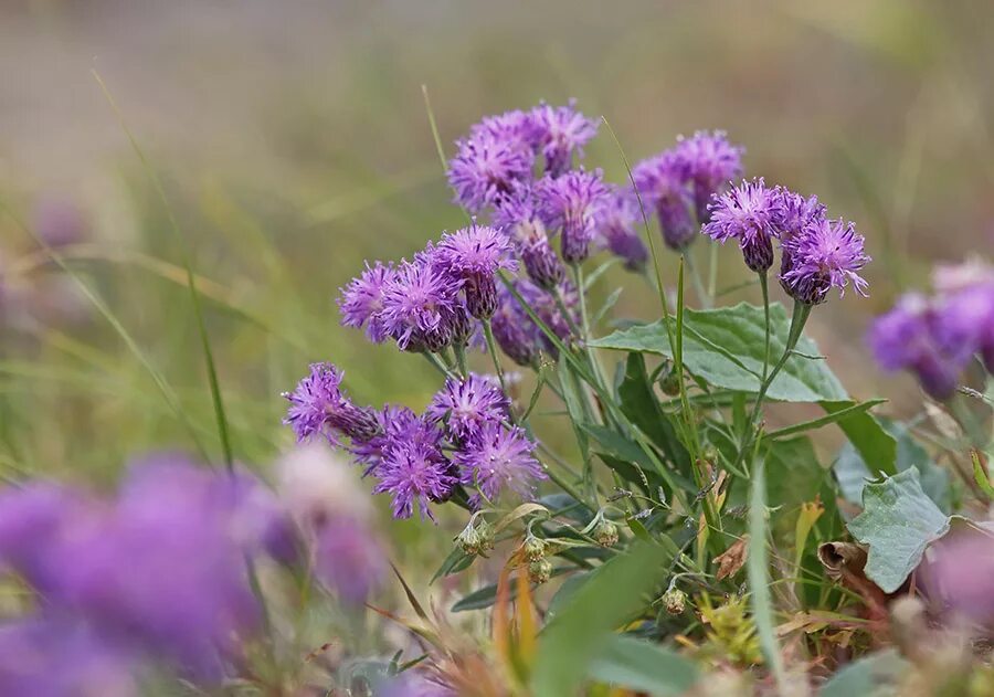
[[[842,294],[850,283],[866,295],[857,273],[870,261],[863,236],[853,223],[828,219],[815,197],[769,188],[760,178],[715,194],[708,212],[701,232],[722,243],[736,240],[745,265],[759,274],[773,265],[773,240],[780,242],[780,284],[795,300],[817,305],[831,288]]]

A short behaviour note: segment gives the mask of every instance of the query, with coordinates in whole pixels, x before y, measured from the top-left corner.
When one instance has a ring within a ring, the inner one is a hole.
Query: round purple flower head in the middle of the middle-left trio
[[[433,250],[403,262],[383,288],[383,326],[402,350],[437,351],[453,339],[463,282],[435,267]]]

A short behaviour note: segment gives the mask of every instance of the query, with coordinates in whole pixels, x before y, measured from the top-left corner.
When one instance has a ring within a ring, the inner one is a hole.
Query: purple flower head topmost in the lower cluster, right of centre
[[[455,442],[464,442],[479,433],[488,423],[500,423],[508,418],[510,401],[500,388],[476,373],[463,381],[450,378],[427,409],[434,421],[445,421],[448,434]]]

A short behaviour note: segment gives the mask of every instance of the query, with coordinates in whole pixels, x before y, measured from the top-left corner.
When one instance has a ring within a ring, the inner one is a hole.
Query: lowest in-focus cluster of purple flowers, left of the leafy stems
[[[404,406],[373,411],[358,408],[340,390],[341,372],[327,363],[311,366],[290,402],[285,423],[299,441],[324,436],[335,445],[350,440],[349,452],[377,484],[374,493],[393,498],[393,516],[409,518],[415,508],[432,518],[431,504],[441,504],[458,487],[473,493],[479,507],[509,489],[530,498],[544,471],[533,456],[535,443],[510,424],[510,403],[488,378],[470,373],[450,378],[423,414]],[[315,400],[315,394],[324,395]],[[376,429],[355,427],[342,412],[368,414]]]

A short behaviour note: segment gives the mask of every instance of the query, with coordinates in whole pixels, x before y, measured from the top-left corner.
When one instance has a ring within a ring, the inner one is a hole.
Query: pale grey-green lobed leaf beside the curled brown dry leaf
[[[847,527],[869,546],[867,578],[892,593],[921,562],[929,543],[949,531],[949,517],[926,496],[913,467],[867,484],[863,509]]]

